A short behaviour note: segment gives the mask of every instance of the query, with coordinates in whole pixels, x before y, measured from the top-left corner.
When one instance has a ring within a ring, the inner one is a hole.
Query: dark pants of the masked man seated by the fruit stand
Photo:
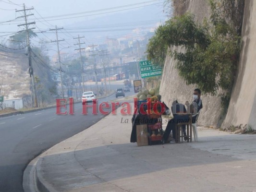
[[[168,124],[166,126],[163,139],[165,142],[168,141],[168,137],[172,131],[172,137],[173,139],[176,139],[176,130],[175,127],[178,123],[184,123],[184,122],[189,122],[189,115],[174,115],[173,119],[168,121]],[[184,134],[186,134],[186,125],[182,126]]]

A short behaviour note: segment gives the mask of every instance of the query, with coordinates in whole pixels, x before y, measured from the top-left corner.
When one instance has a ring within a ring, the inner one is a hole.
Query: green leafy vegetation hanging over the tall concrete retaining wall
[[[186,84],[196,84],[205,94],[222,90],[225,114],[240,55],[244,0],[208,2],[211,15],[203,24],[186,12],[160,25],[147,45],[147,59],[164,65],[169,54]]]

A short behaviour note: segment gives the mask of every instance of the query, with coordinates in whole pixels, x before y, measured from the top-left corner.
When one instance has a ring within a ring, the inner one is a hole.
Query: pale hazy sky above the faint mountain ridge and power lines
[[[47,16],[56,16],[61,14],[69,14],[69,13],[77,13],[77,12],[88,12],[88,11],[94,11],[94,10],[100,10],[105,8],[112,8],[112,7],[118,7],[123,5],[130,5],[140,2],[148,2],[152,0],[0,0],[0,23],[3,21],[9,21],[14,19],[17,16],[20,16],[19,12],[15,12],[15,9],[20,10],[22,9],[22,4],[25,3],[25,6],[27,8],[34,7],[37,12],[42,17]],[[159,9],[159,15],[156,15],[156,18],[163,17],[162,11],[162,5],[164,0],[155,0],[150,3],[145,3],[141,5],[134,5],[133,7],[139,7],[143,5],[149,5],[152,3],[158,3],[156,6],[156,9]],[[18,4],[14,5],[12,3]],[[153,6],[153,5],[152,5]],[[133,7],[124,7],[120,9],[127,9],[127,8],[133,8]],[[116,9],[116,10],[120,10]],[[138,8],[139,9],[139,8]],[[110,10],[110,11],[116,11],[116,10]],[[34,13],[34,16],[39,18],[40,16],[37,14],[36,11],[31,11]],[[105,11],[105,12],[110,12]],[[99,12],[93,12],[88,14],[95,14]],[[34,18],[34,16],[30,16],[29,18]],[[80,15],[77,15],[80,16]],[[99,14],[97,16],[104,16],[103,14]],[[73,18],[73,19],[65,19],[65,20],[55,20],[55,21],[49,21],[50,24],[57,24],[58,26],[73,24],[74,22],[79,21],[85,21],[88,19],[92,19],[96,16],[86,16],[86,17],[80,17],[80,18]],[[55,18],[56,19],[56,18]],[[37,22],[37,20],[35,20]],[[44,22],[45,23],[45,22]],[[0,24],[0,31],[12,31],[14,29],[18,29],[16,26],[17,24],[11,24],[6,25],[10,23],[4,23]],[[42,26],[37,22],[37,25]],[[42,27],[43,28],[43,27]],[[44,28],[47,28],[45,25]]]

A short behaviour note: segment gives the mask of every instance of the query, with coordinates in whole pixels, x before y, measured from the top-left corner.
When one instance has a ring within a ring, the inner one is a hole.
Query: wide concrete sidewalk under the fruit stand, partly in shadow
[[[200,128],[197,143],[138,147],[120,110],[39,157],[41,192],[256,192],[256,135]]]

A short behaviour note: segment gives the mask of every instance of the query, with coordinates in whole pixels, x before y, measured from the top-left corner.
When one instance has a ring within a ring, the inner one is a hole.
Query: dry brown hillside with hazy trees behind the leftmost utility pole
[[[39,56],[38,48],[33,49],[32,63],[39,106],[54,101],[56,95],[56,76],[49,68],[49,58]],[[40,57],[40,58],[39,58]],[[0,88],[5,99],[22,97],[25,107],[31,107],[31,78],[28,73],[28,57],[20,52],[0,49]]]

